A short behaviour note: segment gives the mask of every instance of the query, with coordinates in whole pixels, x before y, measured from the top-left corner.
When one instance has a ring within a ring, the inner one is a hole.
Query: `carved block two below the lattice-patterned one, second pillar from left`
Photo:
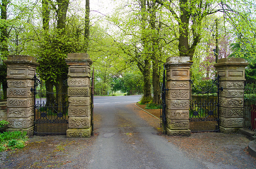
[[[90,106],[69,106],[68,115],[69,116],[90,116],[91,108]]]

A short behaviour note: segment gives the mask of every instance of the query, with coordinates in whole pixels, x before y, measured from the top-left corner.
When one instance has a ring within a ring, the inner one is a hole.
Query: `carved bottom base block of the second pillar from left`
[[[67,130],[67,137],[90,137],[91,131],[91,126],[85,129],[71,128]]]

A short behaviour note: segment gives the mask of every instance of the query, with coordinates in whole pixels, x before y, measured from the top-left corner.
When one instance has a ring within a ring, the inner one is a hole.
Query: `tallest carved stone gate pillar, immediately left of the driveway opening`
[[[87,53],[69,53],[66,63],[69,65],[67,137],[90,137],[92,131],[90,65],[92,61]]]

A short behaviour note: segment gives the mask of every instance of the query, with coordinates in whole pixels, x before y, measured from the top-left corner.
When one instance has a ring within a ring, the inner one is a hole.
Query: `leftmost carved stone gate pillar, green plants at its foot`
[[[34,57],[26,55],[9,55],[3,61],[7,67],[7,117],[6,131],[26,131],[33,135],[34,87],[33,77],[39,65]]]

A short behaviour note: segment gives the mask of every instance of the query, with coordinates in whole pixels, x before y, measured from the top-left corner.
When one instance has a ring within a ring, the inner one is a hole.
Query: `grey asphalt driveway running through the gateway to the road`
[[[134,104],[140,96],[96,97],[94,113],[101,124],[88,169],[208,168],[189,159],[176,146],[138,116]]]

